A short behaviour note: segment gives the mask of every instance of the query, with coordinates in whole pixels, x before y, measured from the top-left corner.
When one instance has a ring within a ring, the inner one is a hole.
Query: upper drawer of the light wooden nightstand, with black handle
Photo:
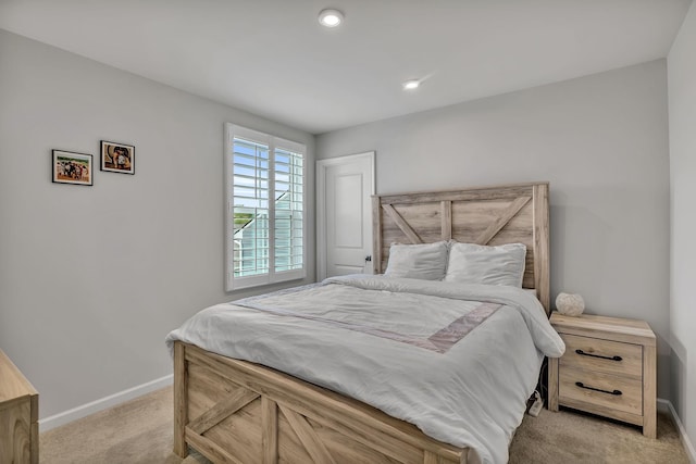
[[[643,347],[576,335],[560,335],[566,354],[560,365],[597,373],[622,375],[638,383],[643,378]]]

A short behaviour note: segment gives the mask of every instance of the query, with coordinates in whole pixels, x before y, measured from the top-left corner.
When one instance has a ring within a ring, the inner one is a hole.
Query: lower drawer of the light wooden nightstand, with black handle
[[[643,414],[643,383],[592,371],[564,368],[558,381],[561,403],[589,403],[601,409]]]

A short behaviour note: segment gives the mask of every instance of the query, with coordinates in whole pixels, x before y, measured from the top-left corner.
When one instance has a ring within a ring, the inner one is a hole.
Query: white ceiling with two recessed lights
[[[0,0],[0,28],[321,134],[664,58],[689,4]]]

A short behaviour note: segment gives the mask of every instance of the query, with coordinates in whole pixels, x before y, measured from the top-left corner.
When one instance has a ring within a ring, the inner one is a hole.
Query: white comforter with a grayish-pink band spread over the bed
[[[544,354],[564,350],[524,290],[364,275],[208,308],[174,340],[356,398],[483,463],[508,461]]]

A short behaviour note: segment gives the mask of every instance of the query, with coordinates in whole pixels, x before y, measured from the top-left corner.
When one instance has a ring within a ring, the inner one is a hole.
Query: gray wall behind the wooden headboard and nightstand
[[[376,150],[378,193],[549,180],[551,297],[647,321],[669,398],[667,111],[659,60],[323,134],[316,156]]]

